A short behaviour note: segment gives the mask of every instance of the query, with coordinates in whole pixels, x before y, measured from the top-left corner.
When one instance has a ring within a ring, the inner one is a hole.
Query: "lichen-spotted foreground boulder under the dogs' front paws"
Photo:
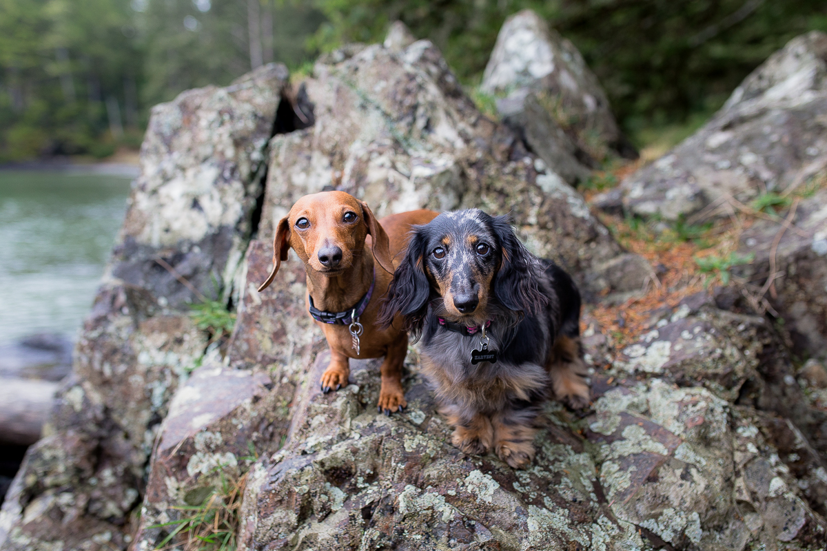
[[[251,470],[240,549],[644,549],[602,498],[564,412],[549,412],[533,467],[514,471],[448,444],[418,375],[405,381],[408,409],[386,417],[375,361],[324,395],[314,382],[325,360],[308,373],[288,444]]]

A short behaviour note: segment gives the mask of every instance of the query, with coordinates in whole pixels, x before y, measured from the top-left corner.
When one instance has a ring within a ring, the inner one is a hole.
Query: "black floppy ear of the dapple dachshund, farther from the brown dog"
[[[540,311],[547,298],[533,276],[531,254],[514,235],[509,216],[495,216],[492,225],[503,255],[494,280],[495,297],[509,310],[523,315]]]

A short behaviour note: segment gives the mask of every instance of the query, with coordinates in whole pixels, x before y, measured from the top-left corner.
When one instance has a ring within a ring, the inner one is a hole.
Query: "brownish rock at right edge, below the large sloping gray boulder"
[[[796,349],[823,359],[827,359],[825,205],[827,189],[821,189],[800,199],[790,228],[784,228],[780,221],[755,221],[740,238],[740,252],[753,253],[755,259],[734,270],[763,287],[774,268],[767,300],[784,319]]]

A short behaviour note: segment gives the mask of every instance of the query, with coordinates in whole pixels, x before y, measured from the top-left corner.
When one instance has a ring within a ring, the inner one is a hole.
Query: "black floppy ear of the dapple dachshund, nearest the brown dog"
[[[418,340],[428,311],[431,283],[425,274],[425,235],[422,226],[414,226],[414,235],[408,244],[394,279],[388,287],[387,300],[382,303],[377,324],[388,327],[397,313],[404,317],[404,327],[414,341]]]

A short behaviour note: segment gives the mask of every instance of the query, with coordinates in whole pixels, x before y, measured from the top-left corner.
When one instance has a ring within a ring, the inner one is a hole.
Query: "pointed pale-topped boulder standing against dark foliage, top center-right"
[[[589,155],[598,160],[609,152],[629,158],[638,156],[619,130],[609,99],[580,52],[531,10],[505,20],[480,88],[500,97],[500,114],[510,125],[525,129],[528,144],[541,157],[543,145],[549,141],[559,141],[557,148],[563,150],[571,148],[566,140],[557,137],[560,127],[571,132],[581,150],[580,155],[569,151],[566,165],[579,164],[577,156],[586,164]],[[527,95],[542,109],[531,112],[533,105],[524,99]],[[538,124],[555,128],[540,134],[542,126],[538,128]],[[586,152],[586,159],[582,152]],[[551,163],[552,159],[543,160]],[[550,166],[556,169],[556,164]],[[579,167],[581,171],[585,169],[582,164]],[[576,178],[581,175],[576,174]]]

